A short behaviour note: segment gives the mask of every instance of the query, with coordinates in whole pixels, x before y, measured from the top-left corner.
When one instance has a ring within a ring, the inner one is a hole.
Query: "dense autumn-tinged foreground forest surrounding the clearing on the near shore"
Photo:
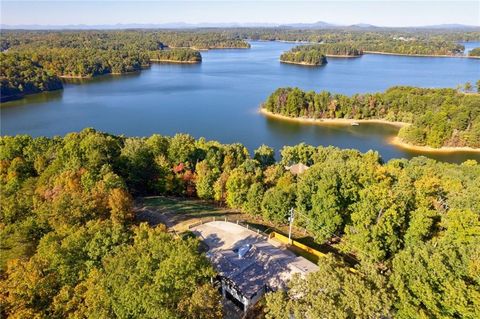
[[[310,168],[292,175],[285,166]],[[217,318],[195,239],[138,224],[132,196],[196,196],[355,256],[266,297],[267,318],[478,318],[480,165],[85,129],[0,138],[3,317]],[[302,292],[302,293],[299,293]]]

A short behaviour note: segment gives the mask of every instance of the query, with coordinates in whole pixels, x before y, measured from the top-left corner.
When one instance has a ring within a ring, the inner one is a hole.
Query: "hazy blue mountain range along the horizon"
[[[23,24],[23,25],[7,25],[0,24],[1,29],[24,29],[24,30],[118,30],[118,29],[199,29],[199,28],[293,28],[293,29],[378,29],[378,28],[394,28],[394,29],[452,29],[452,30],[480,30],[480,26],[464,25],[464,24],[438,24],[428,26],[413,26],[413,27],[385,27],[375,26],[368,23],[357,23],[352,25],[333,24],[324,21],[314,23],[289,23],[289,24],[275,24],[275,23],[159,23],[159,24],[69,24],[69,25],[38,25],[38,24]]]

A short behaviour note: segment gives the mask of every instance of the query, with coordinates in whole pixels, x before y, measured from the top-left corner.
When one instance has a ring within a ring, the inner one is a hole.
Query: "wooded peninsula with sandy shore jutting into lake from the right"
[[[398,136],[409,144],[480,147],[480,95],[454,89],[392,87],[383,93],[346,96],[280,88],[262,108],[292,118],[404,122],[411,125]]]

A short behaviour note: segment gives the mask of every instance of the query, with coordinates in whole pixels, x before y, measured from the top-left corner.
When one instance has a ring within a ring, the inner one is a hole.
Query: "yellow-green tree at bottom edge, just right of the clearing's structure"
[[[331,255],[306,278],[294,277],[287,293],[267,295],[267,318],[382,318],[393,314],[387,278],[370,265],[350,271]]]

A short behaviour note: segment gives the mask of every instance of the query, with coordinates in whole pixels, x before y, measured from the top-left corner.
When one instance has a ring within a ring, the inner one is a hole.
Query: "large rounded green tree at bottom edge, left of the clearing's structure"
[[[198,254],[198,242],[173,239],[145,224],[134,233],[133,244],[107,257],[104,271],[89,287],[107,299],[107,313],[121,318],[218,318],[219,293],[206,285],[214,271]]]

